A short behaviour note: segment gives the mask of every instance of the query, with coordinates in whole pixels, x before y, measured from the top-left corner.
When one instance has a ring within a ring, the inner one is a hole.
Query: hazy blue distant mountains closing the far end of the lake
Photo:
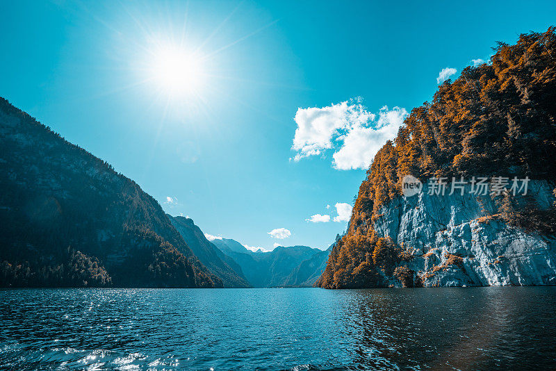
[[[213,244],[238,263],[254,287],[311,287],[322,272],[317,275],[316,271],[328,256],[328,252],[307,246],[279,246],[272,252],[260,249],[252,252],[240,242],[227,238],[215,239]],[[314,281],[313,276],[316,276]]]

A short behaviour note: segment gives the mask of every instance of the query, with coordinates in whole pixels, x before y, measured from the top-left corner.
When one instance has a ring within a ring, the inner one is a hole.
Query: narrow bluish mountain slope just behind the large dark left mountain
[[[167,215],[175,229],[181,234],[183,240],[193,250],[208,270],[222,279],[224,288],[248,288],[250,284],[243,277],[241,267],[226,254],[209,242],[204,233],[187,217],[172,217]]]

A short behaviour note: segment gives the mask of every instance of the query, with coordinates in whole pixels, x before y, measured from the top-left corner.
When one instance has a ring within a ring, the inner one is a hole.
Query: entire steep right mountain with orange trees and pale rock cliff
[[[490,63],[411,110],[375,155],[316,286],[555,285],[555,56],[554,27],[498,43]],[[407,175],[422,192],[404,195]],[[464,179],[461,192],[441,194],[439,179],[448,190]],[[530,179],[526,194],[512,179]]]

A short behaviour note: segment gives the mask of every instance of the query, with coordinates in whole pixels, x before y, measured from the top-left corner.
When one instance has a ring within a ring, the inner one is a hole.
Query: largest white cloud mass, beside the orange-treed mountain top
[[[361,98],[322,108],[297,108],[297,129],[291,147],[295,161],[334,149],[338,170],[366,170],[377,150],[392,139],[407,116],[407,110],[387,106],[378,115],[361,104]],[[377,119],[378,117],[378,119]]]

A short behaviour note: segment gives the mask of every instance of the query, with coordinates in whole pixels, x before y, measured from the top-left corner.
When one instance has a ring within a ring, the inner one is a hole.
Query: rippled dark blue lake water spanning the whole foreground
[[[556,367],[556,288],[0,291],[0,368]]]

